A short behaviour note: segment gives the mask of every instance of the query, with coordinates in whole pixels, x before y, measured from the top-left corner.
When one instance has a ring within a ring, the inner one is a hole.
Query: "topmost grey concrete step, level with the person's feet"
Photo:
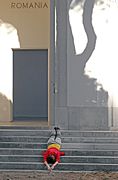
[[[0,129],[0,136],[43,136],[49,137],[50,129],[38,128],[2,128]],[[63,137],[118,137],[118,131],[72,131],[62,130]]]

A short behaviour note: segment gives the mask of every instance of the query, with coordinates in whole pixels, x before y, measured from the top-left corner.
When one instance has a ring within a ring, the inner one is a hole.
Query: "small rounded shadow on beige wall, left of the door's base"
[[[0,122],[12,120],[12,102],[0,93]]]

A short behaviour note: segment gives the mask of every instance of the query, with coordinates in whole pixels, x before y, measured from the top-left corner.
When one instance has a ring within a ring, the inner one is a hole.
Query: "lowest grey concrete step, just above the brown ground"
[[[38,162],[0,162],[0,171],[4,170],[35,170],[44,171],[47,170],[43,163]],[[102,163],[60,163],[55,167],[54,171],[118,171],[118,164],[102,164]]]

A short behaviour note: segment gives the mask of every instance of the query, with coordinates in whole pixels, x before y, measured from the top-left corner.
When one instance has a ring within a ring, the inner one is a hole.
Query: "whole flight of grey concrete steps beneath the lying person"
[[[0,171],[46,171],[42,151],[47,128],[1,127]],[[62,130],[61,163],[55,171],[118,171],[117,131]]]

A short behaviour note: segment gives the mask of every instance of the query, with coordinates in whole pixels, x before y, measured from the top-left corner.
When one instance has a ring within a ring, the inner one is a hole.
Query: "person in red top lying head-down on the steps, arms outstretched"
[[[61,149],[61,132],[60,128],[55,127],[51,132],[50,138],[47,142],[47,150],[43,152],[44,164],[49,171],[52,171],[54,167],[60,162],[60,156],[64,156],[65,153],[60,151]]]

